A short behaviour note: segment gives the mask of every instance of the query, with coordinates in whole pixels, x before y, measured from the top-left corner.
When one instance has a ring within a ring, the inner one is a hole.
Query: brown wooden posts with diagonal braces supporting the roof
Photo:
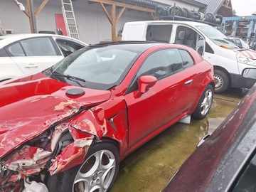
[[[15,2],[15,4],[18,6],[18,1],[17,0],[13,0]],[[117,22],[119,21],[119,18],[122,16],[122,14],[124,13],[125,9],[132,9],[132,10],[137,10],[137,11],[144,11],[144,12],[148,12],[149,14],[151,14],[152,18],[154,20],[156,20],[156,18],[154,17],[154,13],[155,10],[154,9],[148,9],[142,6],[134,6],[131,4],[124,4],[121,2],[117,2],[117,1],[111,1],[111,0],[88,0],[88,2],[94,2],[94,3],[99,3],[102,6],[103,11],[105,12],[108,20],[111,23],[111,29],[112,29],[112,41],[117,41],[118,37],[116,36],[116,26],[117,26]],[[26,10],[23,11],[24,14],[26,14],[26,16],[28,16],[29,18],[29,23],[30,23],[30,27],[31,27],[31,33],[37,33],[36,31],[36,17],[39,16],[40,12],[43,10],[43,8],[46,6],[46,4],[48,3],[48,0],[43,0],[42,3],[40,4],[40,6],[38,6],[38,9],[36,9],[36,11],[34,12],[33,10],[33,0],[26,0]],[[32,5],[32,6],[31,6]],[[111,9],[111,13],[109,14],[106,6],[112,6]],[[121,10],[119,11],[119,14],[117,15],[117,6],[121,7]],[[34,12],[34,14],[33,14]]]

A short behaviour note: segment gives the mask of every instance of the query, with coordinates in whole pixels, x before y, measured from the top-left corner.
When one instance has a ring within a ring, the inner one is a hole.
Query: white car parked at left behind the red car
[[[0,36],[0,82],[40,72],[86,43],[54,34]]]

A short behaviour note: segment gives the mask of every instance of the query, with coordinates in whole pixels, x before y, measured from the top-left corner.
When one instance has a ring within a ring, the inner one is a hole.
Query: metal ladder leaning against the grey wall
[[[79,39],[78,26],[75,21],[72,0],[60,0],[62,5],[63,17],[68,36]]]

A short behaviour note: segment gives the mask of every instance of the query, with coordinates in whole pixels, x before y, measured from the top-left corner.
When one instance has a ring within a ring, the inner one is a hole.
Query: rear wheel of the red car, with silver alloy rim
[[[191,116],[195,119],[203,119],[206,117],[210,110],[210,106],[213,102],[213,86],[208,85],[206,89],[203,91],[201,98],[196,106],[196,110],[191,114]]]

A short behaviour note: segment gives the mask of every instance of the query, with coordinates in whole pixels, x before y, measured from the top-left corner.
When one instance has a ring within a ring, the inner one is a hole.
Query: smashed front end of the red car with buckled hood
[[[108,100],[110,91],[81,88],[83,102],[79,95],[68,95],[74,86],[42,74],[30,78],[0,88],[1,188],[46,167],[56,174],[81,164],[92,139],[107,131],[91,108]]]

